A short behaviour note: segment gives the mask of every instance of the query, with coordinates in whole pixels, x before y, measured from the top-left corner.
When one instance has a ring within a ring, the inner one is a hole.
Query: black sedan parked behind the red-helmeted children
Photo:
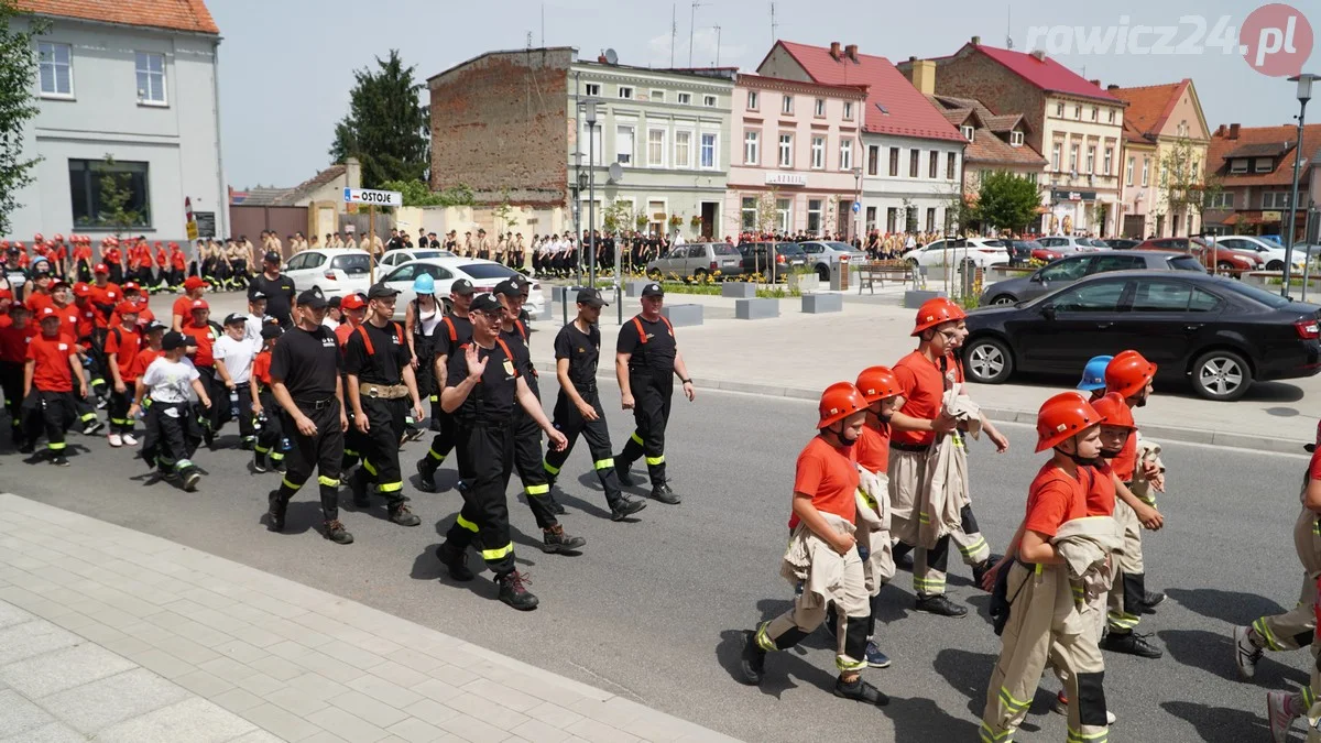
[[[1118,271],[1029,303],[968,313],[964,368],[999,385],[1015,372],[1077,378],[1087,360],[1132,348],[1157,379],[1235,401],[1254,381],[1321,372],[1321,308],[1193,271]]]

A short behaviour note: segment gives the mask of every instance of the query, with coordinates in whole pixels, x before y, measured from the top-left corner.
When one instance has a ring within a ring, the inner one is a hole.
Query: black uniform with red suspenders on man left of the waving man
[[[404,418],[412,403],[403,381],[403,370],[411,361],[404,333],[394,321],[386,323],[384,328],[371,323],[358,325],[343,349],[345,374],[358,377],[358,403],[369,422],[359,452],[362,469],[355,477],[375,484],[391,510],[398,510],[404,502],[399,436],[404,432]],[[404,394],[392,397],[400,391]]]

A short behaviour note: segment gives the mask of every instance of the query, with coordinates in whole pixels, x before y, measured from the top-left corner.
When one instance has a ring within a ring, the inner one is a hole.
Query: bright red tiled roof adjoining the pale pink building
[[[798,61],[807,77],[816,82],[868,86],[864,132],[966,141],[954,124],[947,122],[885,57],[859,54],[855,62],[843,53],[835,59],[826,46],[790,41],[777,41],[775,45],[782,46]],[[774,50],[773,46],[770,53]]]

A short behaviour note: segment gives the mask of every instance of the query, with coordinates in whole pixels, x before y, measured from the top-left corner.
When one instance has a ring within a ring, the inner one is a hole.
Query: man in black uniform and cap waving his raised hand
[[[526,578],[515,570],[514,542],[510,539],[509,501],[505,488],[514,459],[514,407],[520,406],[546,431],[555,448],[563,448],[564,435],[542,412],[542,406],[518,369],[515,358],[501,340],[503,309],[483,293],[469,308],[473,341],[462,346],[449,364],[441,407],[454,419],[458,473],[464,508],[437,547],[440,562],[454,580],[472,580],[468,546],[477,541],[482,559],[495,574],[499,599],[528,611],[538,599],[527,591]]]

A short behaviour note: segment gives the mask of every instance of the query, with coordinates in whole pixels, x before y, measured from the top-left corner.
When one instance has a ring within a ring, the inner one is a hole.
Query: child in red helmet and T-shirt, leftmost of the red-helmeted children
[[[855,542],[857,488],[853,444],[867,419],[867,401],[848,382],[836,382],[822,393],[818,434],[798,455],[793,513],[798,518],[781,575],[795,587],[794,607],[744,633],[742,676],[760,685],[766,672],[766,653],[787,650],[826,620],[826,607],[835,604],[835,695],[869,705],[886,705],[889,697],[861,680],[867,668],[867,635],[871,609],[863,558]]]

